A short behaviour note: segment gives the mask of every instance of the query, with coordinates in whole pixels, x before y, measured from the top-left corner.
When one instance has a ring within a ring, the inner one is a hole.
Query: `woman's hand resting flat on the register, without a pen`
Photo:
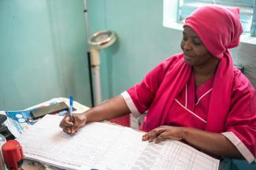
[[[183,139],[183,127],[173,127],[173,126],[161,126],[154,128],[152,131],[147,132],[143,135],[143,141],[148,142],[161,142],[165,139]]]

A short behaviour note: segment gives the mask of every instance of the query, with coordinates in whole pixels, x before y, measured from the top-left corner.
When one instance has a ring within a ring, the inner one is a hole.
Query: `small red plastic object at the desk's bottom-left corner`
[[[9,140],[2,146],[2,156],[8,169],[17,170],[20,168],[24,153],[17,140]]]

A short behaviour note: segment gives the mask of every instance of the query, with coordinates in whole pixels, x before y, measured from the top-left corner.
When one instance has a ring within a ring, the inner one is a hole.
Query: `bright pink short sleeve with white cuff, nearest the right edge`
[[[247,159],[256,156],[256,92],[242,73],[235,73],[231,108],[223,133]]]

